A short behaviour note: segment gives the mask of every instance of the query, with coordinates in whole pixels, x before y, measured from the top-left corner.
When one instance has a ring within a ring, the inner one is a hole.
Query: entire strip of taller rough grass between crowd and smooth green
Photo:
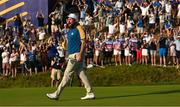
[[[106,66],[88,69],[88,76],[93,86],[180,84],[180,70],[173,67],[152,67],[146,65]],[[17,78],[1,78],[0,88],[8,87],[49,87],[50,72]],[[79,81],[74,75],[73,86]]]

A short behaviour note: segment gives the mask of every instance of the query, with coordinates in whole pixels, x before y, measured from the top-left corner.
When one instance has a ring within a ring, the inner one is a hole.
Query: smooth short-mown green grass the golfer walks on
[[[67,87],[59,100],[45,94],[55,88],[0,89],[0,106],[180,106],[180,85],[94,87],[95,100],[82,101],[84,88]]]

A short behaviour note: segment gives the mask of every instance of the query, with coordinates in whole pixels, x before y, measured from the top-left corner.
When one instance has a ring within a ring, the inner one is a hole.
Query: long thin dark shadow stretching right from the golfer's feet
[[[96,99],[112,99],[112,98],[123,98],[123,97],[135,97],[135,96],[144,96],[144,95],[156,95],[156,94],[172,94],[172,93],[180,93],[179,90],[168,90],[168,91],[158,91],[158,92],[151,92],[151,93],[137,93],[131,95],[119,95],[119,96],[105,96],[105,97],[97,97]]]

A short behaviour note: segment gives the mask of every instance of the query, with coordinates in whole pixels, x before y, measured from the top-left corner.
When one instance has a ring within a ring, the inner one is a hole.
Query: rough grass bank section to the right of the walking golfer
[[[172,67],[111,66],[106,69],[90,69],[89,75],[95,86],[180,83],[180,71]]]

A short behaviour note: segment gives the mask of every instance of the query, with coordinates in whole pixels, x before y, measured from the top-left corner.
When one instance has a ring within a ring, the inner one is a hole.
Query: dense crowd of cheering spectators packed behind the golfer
[[[151,64],[175,66],[180,59],[179,0],[94,0],[90,11],[85,0],[73,0],[79,23],[86,33],[87,68],[106,65]],[[38,26],[19,14],[14,25],[0,25],[2,76],[46,72],[52,61],[65,66],[68,26],[63,3],[49,14],[51,33],[44,15],[37,12]],[[93,14],[92,14],[93,13]]]

